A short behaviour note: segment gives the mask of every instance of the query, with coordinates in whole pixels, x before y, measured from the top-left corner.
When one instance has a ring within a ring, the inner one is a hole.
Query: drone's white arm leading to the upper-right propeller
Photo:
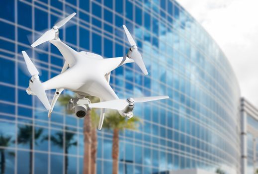
[[[127,56],[124,57],[116,57],[116,58],[109,58],[109,59],[102,59],[103,61],[103,68],[104,73],[108,74],[114,69],[120,67],[121,65],[127,64],[127,63],[133,63],[134,60],[128,58]]]

